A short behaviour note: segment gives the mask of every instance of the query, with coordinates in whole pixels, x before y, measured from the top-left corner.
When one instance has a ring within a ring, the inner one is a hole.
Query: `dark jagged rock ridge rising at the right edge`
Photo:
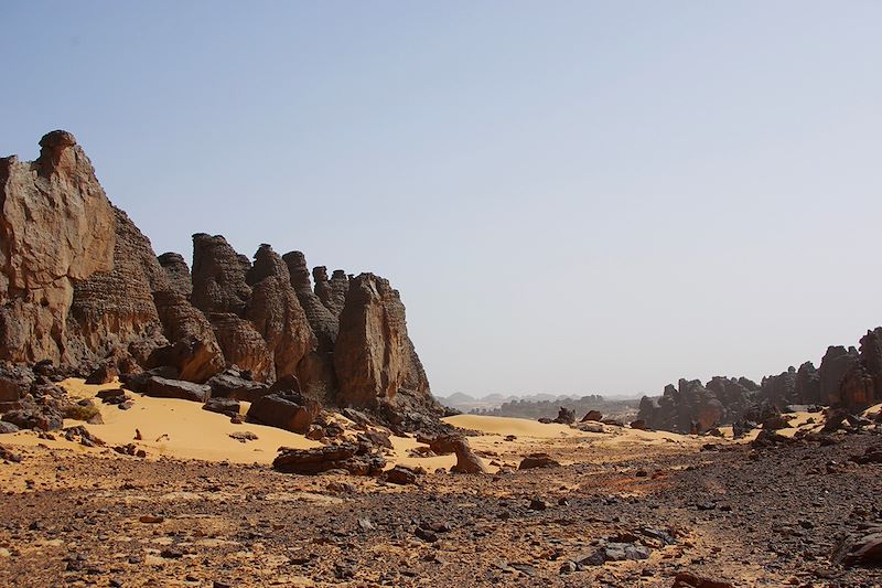
[[[662,396],[641,399],[637,415],[650,428],[703,432],[735,423],[757,406],[831,405],[856,411],[882,402],[882,327],[868,331],[860,350],[831,345],[820,367],[805,362],[757,386],[746,378],[714,377],[707,385],[680,379]]]

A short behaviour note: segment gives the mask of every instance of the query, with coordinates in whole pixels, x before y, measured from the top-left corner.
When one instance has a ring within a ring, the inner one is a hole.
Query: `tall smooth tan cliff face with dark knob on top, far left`
[[[40,147],[33,162],[0,159],[0,360],[60,364],[74,284],[112,268],[115,217],[73,135]]]

